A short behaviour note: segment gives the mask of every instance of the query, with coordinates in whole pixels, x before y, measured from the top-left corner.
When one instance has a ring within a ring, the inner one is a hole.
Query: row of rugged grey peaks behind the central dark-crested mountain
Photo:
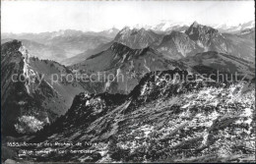
[[[169,59],[180,59],[204,51],[218,51],[246,60],[254,60],[254,38],[254,27],[240,30],[237,33],[223,33],[219,29],[196,22],[190,27],[184,27],[183,31],[157,32],[149,27],[124,27],[116,34],[113,41],[68,58],[65,64],[69,66],[78,64],[81,59],[85,60],[91,55],[106,50],[114,41],[133,49],[151,46]]]

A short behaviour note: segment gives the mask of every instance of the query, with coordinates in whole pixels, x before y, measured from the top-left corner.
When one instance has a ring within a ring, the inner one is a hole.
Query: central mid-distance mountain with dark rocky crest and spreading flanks
[[[114,75],[114,82],[105,82],[105,91],[128,93],[138,84],[143,74],[178,67],[175,61],[167,60],[151,47],[131,49],[114,42],[108,49],[70,68],[93,74],[101,72]],[[124,80],[124,81],[123,81]]]

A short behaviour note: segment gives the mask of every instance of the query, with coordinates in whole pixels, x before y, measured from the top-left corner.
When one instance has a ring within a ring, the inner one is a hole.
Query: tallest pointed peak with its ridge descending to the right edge
[[[255,40],[242,35],[221,33],[218,29],[193,23],[185,33],[204,51],[218,51],[246,60],[255,59]]]

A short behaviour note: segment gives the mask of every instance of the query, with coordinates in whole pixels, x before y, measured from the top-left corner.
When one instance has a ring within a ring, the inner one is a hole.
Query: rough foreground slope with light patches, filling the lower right
[[[65,116],[31,141],[96,144],[60,147],[65,155],[38,147],[42,153],[31,157],[37,162],[253,161],[254,82],[181,82],[175,77],[182,74],[189,73],[146,74],[127,96],[79,94]],[[93,153],[68,152],[85,148]]]

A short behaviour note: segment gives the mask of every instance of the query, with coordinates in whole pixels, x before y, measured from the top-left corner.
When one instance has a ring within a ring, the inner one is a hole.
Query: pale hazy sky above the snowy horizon
[[[103,30],[161,20],[239,24],[254,20],[254,1],[2,1],[2,32]]]

